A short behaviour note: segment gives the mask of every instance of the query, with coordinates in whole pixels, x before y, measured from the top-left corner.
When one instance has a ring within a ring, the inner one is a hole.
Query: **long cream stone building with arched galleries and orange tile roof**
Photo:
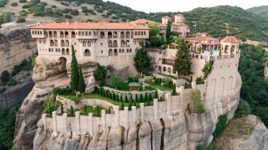
[[[71,63],[71,45],[79,60],[114,65],[130,65],[135,73],[133,57],[141,42],[149,39],[149,27],[132,23],[49,23],[30,27],[37,39],[38,54],[44,58],[64,59]]]

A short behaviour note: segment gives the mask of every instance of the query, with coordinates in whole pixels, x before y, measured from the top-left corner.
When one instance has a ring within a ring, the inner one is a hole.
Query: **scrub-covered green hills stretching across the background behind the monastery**
[[[16,25],[23,23],[27,25],[30,23],[35,24],[37,23],[35,18],[40,17],[44,22],[56,21],[58,23],[66,18],[78,18],[82,22],[96,22],[99,19],[107,22],[121,22],[127,19],[147,18],[161,23],[161,18],[164,15],[173,17],[177,13],[183,13],[186,23],[190,25],[193,32],[195,32],[193,25],[197,24],[197,32],[208,32],[212,37],[222,38],[226,35],[233,35],[243,39],[243,41],[248,38],[268,42],[266,34],[268,33],[268,18],[261,16],[266,7],[250,9],[254,13],[239,7],[215,6],[211,8],[195,8],[193,11],[188,12],[173,10],[174,12],[149,14],[102,0],[0,0],[0,7],[0,25],[8,22],[16,22]],[[11,11],[11,13],[4,13],[5,11]]]

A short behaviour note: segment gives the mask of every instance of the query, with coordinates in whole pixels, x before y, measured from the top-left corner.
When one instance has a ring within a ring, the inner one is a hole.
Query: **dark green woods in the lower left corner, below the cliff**
[[[20,104],[0,110],[0,149],[11,149],[15,131],[16,113]]]

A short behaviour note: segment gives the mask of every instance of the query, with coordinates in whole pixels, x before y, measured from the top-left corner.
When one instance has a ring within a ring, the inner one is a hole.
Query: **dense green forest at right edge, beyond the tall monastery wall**
[[[240,49],[238,71],[243,82],[240,97],[250,104],[252,114],[259,116],[268,126],[268,85],[264,79],[267,53],[262,47],[250,44],[242,44]]]

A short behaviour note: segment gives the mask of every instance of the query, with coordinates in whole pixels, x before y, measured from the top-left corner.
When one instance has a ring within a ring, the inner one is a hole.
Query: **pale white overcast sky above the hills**
[[[106,0],[104,0],[106,1]],[[129,6],[136,11],[191,11],[197,7],[212,7],[219,5],[239,6],[247,9],[254,6],[268,5],[268,0],[109,0],[123,6]]]

